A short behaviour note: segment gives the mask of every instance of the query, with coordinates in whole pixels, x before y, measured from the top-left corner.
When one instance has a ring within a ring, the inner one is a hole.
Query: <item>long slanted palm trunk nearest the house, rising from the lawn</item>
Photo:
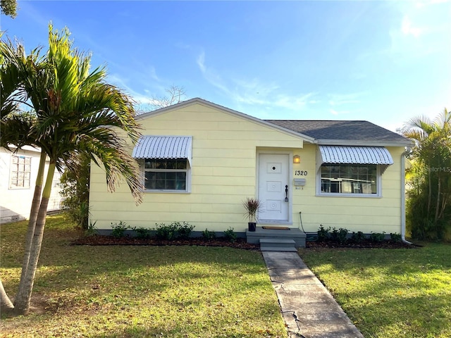
[[[45,220],[47,216],[47,206],[49,205],[51,184],[55,173],[55,162],[51,161],[47,178],[42,192],[41,205],[37,214],[35,234],[33,234],[32,245],[30,250],[30,258],[28,261],[27,272],[25,273],[22,288],[18,290],[15,299],[14,312],[18,315],[26,315],[30,311],[30,300],[35,282],[35,275],[37,270],[37,262],[39,261],[39,253],[41,252],[42,238],[44,237]]]

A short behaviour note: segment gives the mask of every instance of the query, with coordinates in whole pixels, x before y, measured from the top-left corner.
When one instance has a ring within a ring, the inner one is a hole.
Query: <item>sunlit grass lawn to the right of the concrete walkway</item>
[[[451,337],[451,245],[300,249],[365,337]]]

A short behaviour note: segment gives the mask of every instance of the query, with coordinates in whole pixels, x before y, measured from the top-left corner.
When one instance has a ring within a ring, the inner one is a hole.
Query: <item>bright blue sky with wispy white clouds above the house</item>
[[[1,30],[27,51],[48,25],[145,108],[184,87],[257,118],[369,120],[451,109],[449,1],[22,1]]]

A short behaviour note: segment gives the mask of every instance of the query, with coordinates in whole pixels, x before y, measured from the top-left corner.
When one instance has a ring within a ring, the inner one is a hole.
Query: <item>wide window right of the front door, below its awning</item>
[[[378,196],[376,164],[321,165],[321,194],[359,194]]]

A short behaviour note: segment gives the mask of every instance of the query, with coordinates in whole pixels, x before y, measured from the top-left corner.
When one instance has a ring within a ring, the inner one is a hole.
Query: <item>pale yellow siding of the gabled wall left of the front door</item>
[[[247,229],[242,201],[256,196],[257,147],[302,148],[299,137],[239,115],[194,104],[143,119],[142,134],[192,136],[190,193],[144,193],[135,206],[126,184],[106,191],[104,171],[92,166],[91,220],[99,229],[125,221],[132,227],[186,221],[195,231]]]

